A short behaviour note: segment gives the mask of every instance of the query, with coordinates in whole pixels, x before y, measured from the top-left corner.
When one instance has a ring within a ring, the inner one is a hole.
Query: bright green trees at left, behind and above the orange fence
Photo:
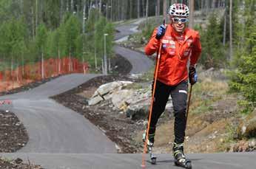
[[[0,1],[1,68],[10,67],[10,62],[13,67],[40,61],[42,54],[44,58],[71,55],[94,65],[95,51],[99,60],[104,55],[104,33],[109,34],[107,54],[112,55],[112,24],[98,9],[87,6],[83,34],[84,1],[73,2],[71,9],[67,0]]]

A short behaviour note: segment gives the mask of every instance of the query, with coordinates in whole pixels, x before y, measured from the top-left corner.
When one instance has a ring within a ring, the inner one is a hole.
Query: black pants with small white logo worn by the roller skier
[[[152,85],[153,88],[153,85]],[[151,122],[149,126],[149,140],[154,142],[155,127],[159,117],[165,110],[169,94],[172,97],[172,104],[175,115],[175,140],[176,143],[183,143],[186,130],[186,98],[187,98],[187,81],[179,83],[177,86],[167,86],[157,80],[155,87],[155,100],[152,108]],[[168,131],[166,131],[168,133]]]

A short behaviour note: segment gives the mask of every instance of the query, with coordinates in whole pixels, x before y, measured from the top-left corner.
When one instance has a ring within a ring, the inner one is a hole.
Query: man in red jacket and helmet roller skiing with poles
[[[148,127],[143,134],[153,165],[156,163],[156,156],[152,154],[156,124],[171,95],[175,114],[175,139],[172,147],[175,165],[192,168],[183,152],[186,100],[188,81],[191,85],[197,82],[195,65],[201,55],[201,42],[199,33],[186,27],[188,17],[189,8],[185,4],[172,4],[169,7],[170,23],[155,28],[145,47],[146,55],[158,52],[155,80],[152,84],[152,108]]]

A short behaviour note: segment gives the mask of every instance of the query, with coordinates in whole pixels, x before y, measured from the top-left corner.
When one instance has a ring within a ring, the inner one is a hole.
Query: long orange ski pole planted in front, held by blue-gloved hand
[[[164,25],[165,25],[165,19],[164,19]],[[146,167],[146,165],[145,165],[146,144],[147,144],[147,139],[149,139],[149,126],[150,126],[150,122],[151,122],[152,109],[153,109],[153,103],[154,103],[154,97],[155,97],[156,80],[158,78],[158,67],[159,67],[159,63],[160,63],[161,49],[162,49],[162,41],[160,42],[160,46],[159,46],[159,49],[158,49],[158,58],[157,58],[157,62],[156,62],[156,65],[155,65],[155,78],[154,78],[153,92],[152,92],[150,109],[149,109],[149,117],[148,117],[149,121],[147,123],[146,141],[144,142],[144,151],[143,151],[143,154],[142,154],[142,164],[141,164],[142,168]]]

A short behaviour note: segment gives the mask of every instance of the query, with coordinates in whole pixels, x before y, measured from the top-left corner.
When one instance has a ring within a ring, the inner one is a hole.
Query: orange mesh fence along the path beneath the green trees
[[[87,63],[76,58],[50,58],[42,62],[19,66],[13,71],[0,72],[0,92],[24,86],[43,78],[55,77],[70,73],[84,73],[89,70]]]

